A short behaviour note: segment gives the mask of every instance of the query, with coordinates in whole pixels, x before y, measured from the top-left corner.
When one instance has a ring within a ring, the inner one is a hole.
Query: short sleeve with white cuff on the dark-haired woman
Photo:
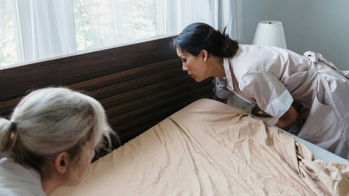
[[[263,72],[249,72],[240,82],[239,88],[246,96],[254,98],[261,110],[280,118],[290,108],[293,98],[275,76]]]

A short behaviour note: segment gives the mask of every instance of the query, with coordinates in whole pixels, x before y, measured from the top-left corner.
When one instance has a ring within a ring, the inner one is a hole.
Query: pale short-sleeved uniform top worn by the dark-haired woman
[[[280,118],[295,97],[304,99],[297,94],[304,90],[310,64],[304,56],[282,48],[240,45],[233,58],[224,58],[226,77],[217,78],[217,96],[228,98],[235,93]],[[312,98],[305,99],[311,104]],[[305,103],[307,109],[310,104]]]

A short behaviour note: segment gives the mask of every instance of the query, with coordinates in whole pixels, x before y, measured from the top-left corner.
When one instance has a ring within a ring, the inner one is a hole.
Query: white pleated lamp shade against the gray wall
[[[282,23],[277,21],[259,22],[252,45],[276,46],[287,49]]]

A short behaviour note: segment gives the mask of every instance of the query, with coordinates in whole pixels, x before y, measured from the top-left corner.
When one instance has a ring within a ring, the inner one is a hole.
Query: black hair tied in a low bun
[[[215,30],[205,23],[192,23],[185,27],[185,29],[173,38],[171,46],[181,52],[188,52],[194,56],[198,56],[201,50],[206,50],[208,56],[221,56],[231,58],[236,54],[239,48],[239,43],[236,40],[229,38],[219,30]]]

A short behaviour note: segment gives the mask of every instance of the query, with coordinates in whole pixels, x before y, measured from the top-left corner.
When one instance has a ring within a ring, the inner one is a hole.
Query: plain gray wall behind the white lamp
[[[288,50],[321,53],[349,70],[348,10],[348,0],[243,0],[243,44],[252,44],[259,21],[280,21]]]

